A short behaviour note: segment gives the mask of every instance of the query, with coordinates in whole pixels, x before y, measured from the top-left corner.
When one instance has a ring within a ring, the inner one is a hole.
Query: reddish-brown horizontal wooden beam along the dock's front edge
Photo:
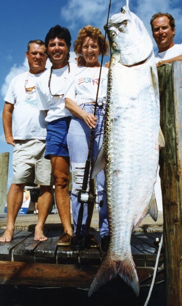
[[[0,284],[89,288],[98,267],[0,261]],[[152,268],[137,268],[139,280]]]

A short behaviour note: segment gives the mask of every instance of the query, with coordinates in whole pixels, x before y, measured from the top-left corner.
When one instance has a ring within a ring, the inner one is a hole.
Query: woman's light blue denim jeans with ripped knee
[[[82,109],[86,110],[88,113],[93,114],[94,104],[84,103],[80,106]],[[93,143],[90,159],[97,157],[100,147],[103,142],[103,132],[104,132],[104,113],[105,106],[97,106],[96,118],[97,123],[93,134]],[[83,175],[85,170],[85,163],[88,155],[89,141],[90,141],[91,129],[81,118],[73,116],[71,119],[67,143],[71,163],[72,172],[72,191],[71,191],[71,207],[72,215],[74,221],[74,235],[76,233],[76,226],[78,220],[78,212],[80,203],[77,201],[77,196],[79,190],[82,190]],[[89,184],[87,186],[89,190]],[[108,217],[107,217],[107,198],[106,198],[106,184],[104,170],[100,171],[96,176],[96,191],[98,196],[98,202],[103,200],[103,206],[99,208],[99,229],[100,236],[104,237],[109,235]],[[83,210],[83,220],[81,234],[86,235],[86,220],[88,216],[87,204],[84,203]]]

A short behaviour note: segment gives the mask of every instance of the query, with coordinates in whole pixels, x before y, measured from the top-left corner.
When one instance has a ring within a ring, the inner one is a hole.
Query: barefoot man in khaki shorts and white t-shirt
[[[37,109],[35,91],[36,80],[44,72],[47,60],[44,42],[31,40],[27,46],[26,57],[29,71],[13,78],[4,98],[2,119],[5,140],[14,146],[14,151],[13,179],[7,196],[7,226],[0,242],[10,242],[13,239],[16,216],[23,203],[24,187],[27,183],[40,185],[35,241],[47,239],[43,229],[53,202],[51,164],[49,160],[44,159],[46,113]]]

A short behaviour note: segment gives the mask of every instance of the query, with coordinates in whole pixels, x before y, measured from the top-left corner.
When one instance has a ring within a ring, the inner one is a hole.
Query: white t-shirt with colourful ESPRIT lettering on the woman
[[[77,67],[70,72],[64,98],[72,99],[78,106],[82,103],[95,102],[100,67]],[[102,67],[97,103],[106,103],[108,69]]]

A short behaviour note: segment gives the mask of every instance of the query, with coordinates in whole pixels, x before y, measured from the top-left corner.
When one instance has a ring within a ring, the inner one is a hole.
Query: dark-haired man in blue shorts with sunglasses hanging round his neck
[[[73,236],[68,193],[70,162],[67,147],[71,113],[65,108],[64,103],[68,73],[77,66],[68,62],[70,46],[71,35],[67,28],[56,25],[49,30],[45,37],[45,47],[52,67],[42,74],[36,84],[38,108],[47,113],[45,159],[51,160],[56,206],[64,229],[57,241],[57,245],[61,246],[70,245]]]

